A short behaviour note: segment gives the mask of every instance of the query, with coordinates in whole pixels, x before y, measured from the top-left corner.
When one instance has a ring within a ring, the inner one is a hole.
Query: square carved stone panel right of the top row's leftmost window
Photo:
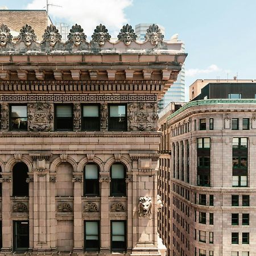
[[[53,130],[52,104],[36,102],[28,104],[28,130],[51,131]]]

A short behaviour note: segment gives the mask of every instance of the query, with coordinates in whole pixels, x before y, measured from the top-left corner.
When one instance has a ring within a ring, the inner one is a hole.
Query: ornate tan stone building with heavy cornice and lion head
[[[164,256],[157,101],[181,43],[152,54],[152,34],[112,43],[100,24],[87,42],[76,24],[63,42],[45,30],[38,42],[23,26],[13,43],[1,26],[1,253]]]

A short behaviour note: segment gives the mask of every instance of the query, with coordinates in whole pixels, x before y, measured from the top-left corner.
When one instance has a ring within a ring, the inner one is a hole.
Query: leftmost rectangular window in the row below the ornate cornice
[[[27,131],[27,106],[11,106],[10,129]]]

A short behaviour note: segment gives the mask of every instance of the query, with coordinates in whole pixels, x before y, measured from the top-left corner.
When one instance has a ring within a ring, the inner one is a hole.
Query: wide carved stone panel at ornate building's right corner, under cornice
[[[129,104],[127,121],[129,131],[158,130],[157,105],[153,102],[138,102]]]

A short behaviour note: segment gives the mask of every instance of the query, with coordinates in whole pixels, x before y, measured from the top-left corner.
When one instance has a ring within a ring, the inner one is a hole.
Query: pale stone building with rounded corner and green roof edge
[[[167,255],[255,255],[255,94],[251,83],[209,84],[207,100],[159,119]]]

